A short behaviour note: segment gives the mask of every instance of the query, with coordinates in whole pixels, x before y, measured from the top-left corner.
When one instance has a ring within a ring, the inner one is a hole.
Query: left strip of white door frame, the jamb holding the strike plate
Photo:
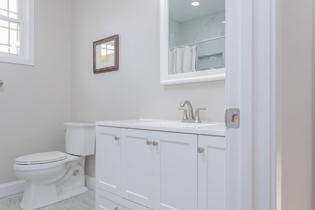
[[[226,0],[226,11],[226,108],[241,110],[226,130],[226,206],[252,210],[252,0]]]

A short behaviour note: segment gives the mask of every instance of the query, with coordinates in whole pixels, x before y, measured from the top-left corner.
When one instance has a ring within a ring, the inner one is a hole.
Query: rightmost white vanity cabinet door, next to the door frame
[[[198,136],[198,210],[225,210],[225,138]]]

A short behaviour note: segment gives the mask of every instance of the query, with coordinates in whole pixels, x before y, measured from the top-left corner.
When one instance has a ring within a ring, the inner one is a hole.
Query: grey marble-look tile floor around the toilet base
[[[0,198],[0,210],[22,210],[20,202],[23,193]],[[95,210],[95,191],[90,190],[81,195],[63,200],[37,210]]]

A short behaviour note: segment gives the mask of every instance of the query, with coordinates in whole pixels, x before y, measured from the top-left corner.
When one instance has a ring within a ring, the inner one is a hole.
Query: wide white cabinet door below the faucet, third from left
[[[197,135],[155,131],[154,210],[197,209]]]

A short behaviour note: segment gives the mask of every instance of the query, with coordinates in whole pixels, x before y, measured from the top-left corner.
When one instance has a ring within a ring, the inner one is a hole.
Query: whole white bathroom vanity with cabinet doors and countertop
[[[96,122],[96,210],[225,210],[223,123]]]

